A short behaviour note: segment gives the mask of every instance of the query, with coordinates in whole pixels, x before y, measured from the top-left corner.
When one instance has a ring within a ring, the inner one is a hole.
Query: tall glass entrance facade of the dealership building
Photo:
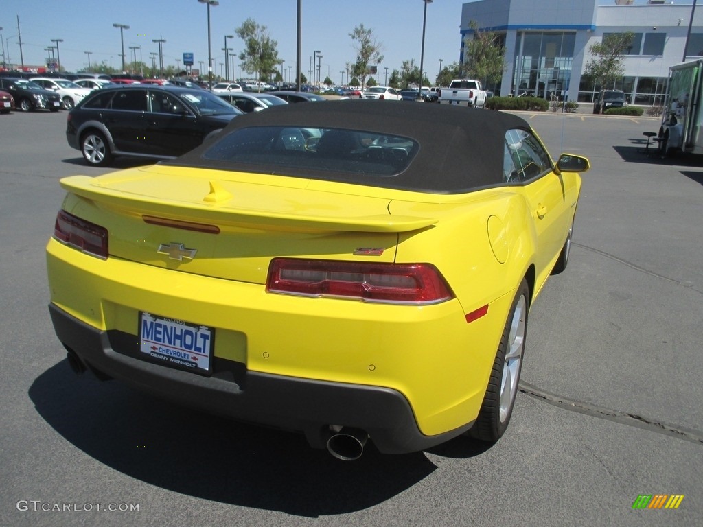
[[[517,32],[512,93],[549,98],[569,89],[575,32]]]

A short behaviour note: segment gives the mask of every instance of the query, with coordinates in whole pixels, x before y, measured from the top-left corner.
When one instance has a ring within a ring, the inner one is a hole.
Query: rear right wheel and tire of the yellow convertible
[[[528,311],[529,288],[523,278],[510,306],[479,416],[468,431],[469,436],[479,441],[496,443],[508,428],[520,382]]]

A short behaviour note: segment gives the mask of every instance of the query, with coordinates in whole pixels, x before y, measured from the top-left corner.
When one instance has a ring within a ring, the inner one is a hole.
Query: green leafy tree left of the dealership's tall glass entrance
[[[505,71],[505,46],[501,36],[479,30],[475,20],[469,22],[469,27],[474,31],[474,38],[465,46],[466,77],[478,79],[484,85],[500,81]]]

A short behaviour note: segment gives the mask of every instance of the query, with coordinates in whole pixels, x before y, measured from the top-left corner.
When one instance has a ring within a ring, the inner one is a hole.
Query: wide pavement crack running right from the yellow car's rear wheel
[[[575,401],[574,399],[562,397],[556,393],[551,393],[550,391],[538,388],[533,384],[529,384],[529,382],[520,381],[519,389],[522,393],[526,393],[527,395],[540,401],[558,406],[559,408],[563,408],[565,410],[571,410],[572,412],[578,412],[584,415],[591,415],[591,417],[599,417],[600,419],[607,419],[608,421],[617,422],[619,424],[626,424],[629,427],[654,431],[657,432],[657,434],[664,434],[665,436],[676,437],[678,439],[683,439],[684,441],[690,441],[690,443],[703,445],[703,433],[697,430],[679,427],[673,424],[666,424],[655,419],[643,417],[642,415],[629,412],[619,412],[618,410],[612,410],[610,408],[604,408],[598,405]]]

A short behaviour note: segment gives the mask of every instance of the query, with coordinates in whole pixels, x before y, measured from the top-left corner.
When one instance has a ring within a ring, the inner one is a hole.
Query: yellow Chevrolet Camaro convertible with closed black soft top
[[[78,373],[343,460],[495,442],[588,168],[501,112],[243,115],[174,160],[61,180],[53,326]]]

